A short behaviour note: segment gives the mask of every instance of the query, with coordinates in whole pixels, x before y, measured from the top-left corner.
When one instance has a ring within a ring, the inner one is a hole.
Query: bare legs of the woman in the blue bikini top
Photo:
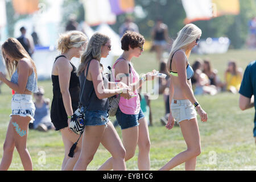
[[[160,170],[170,170],[185,162],[185,170],[195,170],[196,157],[201,154],[200,133],[197,119],[180,122],[180,129],[187,144],[187,150],[172,158]]]

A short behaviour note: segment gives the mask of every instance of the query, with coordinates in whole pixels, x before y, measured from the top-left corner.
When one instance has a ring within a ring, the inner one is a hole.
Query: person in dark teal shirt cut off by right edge
[[[256,61],[253,61],[249,65],[247,65],[245,73],[243,74],[243,80],[239,93],[240,109],[246,110],[254,106],[256,110],[256,102],[254,102],[254,96],[256,94]],[[253,134],[256,143],[256,113],[254,115]]]

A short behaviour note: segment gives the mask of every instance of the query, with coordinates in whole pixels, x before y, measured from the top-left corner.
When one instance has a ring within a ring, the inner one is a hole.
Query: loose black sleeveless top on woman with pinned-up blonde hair
[[[57,56],[55,61],[59,57],[65,57],[65,56],[63,55]],[[76,75],[75,65],[73,65],[71,62],[70,64],[72,65],[73,69],[72,69],[70,80],[69,80],[69,94],[71,96],[72,109],[73,109],[73,112],[75,112],[77,107],[79,106],[80,81],[79,81],[79,77]],[[67,121],[67,113],[65,111],[62,94],[60,92],[60,83],[59,83],[58,75],[52,75],[52,86],[53,86],[53,89],[52,89],[53,98],[52,98],[52,106],[51,106],[51,119],[53,120],[53,122]]]

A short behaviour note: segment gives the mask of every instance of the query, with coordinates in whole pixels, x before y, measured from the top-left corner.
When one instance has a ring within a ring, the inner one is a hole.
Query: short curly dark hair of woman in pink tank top
[[[137,32],[127,31],[121,38],[121,44],[123,51],[129,51],[129,46],[131,48],[143,46],[145,39],[143,35]]]

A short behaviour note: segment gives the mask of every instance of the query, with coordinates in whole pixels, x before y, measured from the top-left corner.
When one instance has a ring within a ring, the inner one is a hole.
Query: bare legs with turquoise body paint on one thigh
[[[16,147],[19,153],[24,170],[32,170],[32,160],[27,150],[28,123],[30,120],[30,117],[20,117],[19,115],[13,115],[11,117],[5,143],[3,144],[0,171],[9,169],[11,160],[13,159],[14,147]],[[18,131],[23,131],[23,133],[19,133]]]

